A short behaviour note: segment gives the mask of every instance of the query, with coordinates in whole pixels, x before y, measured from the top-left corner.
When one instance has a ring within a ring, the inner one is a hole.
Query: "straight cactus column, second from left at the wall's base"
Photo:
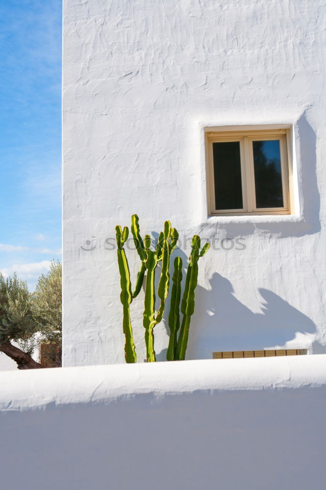
[[[146,343],[146,357],[147,362],[155,362],[154,351],[154,335],[152,322],[155,314],[155,268],[157,261],[155,253],[148,249],[147,260],[145,263],[147,269],[146,286],[145,286],[145,300],[144,300],[144,314],[143,314],[143,326],[145,328],[145,343]]]

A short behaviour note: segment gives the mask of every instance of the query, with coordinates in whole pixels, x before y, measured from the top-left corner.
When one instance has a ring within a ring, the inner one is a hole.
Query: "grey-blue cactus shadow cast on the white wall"
[[[216,351],[282,346],[297,332],[316,331],[311,319],[280,296],[262,288],[258,292],[261,312],[254,313],[234,296],[231,282],[217,272],[210,279],[210,290],[198,285],[186,358],[211,359]]]

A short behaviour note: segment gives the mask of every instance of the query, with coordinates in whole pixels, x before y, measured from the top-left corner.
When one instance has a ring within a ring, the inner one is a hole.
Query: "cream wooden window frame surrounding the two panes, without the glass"
[[[206,158],[208,167],[208,194],[210,216],[242,216],[242,215],[289,215],[291,214],[290,177],[292,176],[292,162],[290,154],[290,130],[286,128],[253,129],[253,130],[223,130],[206,131]],[[253,141],[279,140],[281,178],[283,190],[283,207],[257,208],[255,193],[255,174]],[[215,184],[213,166],[213,143],[239,141],[242,180],[242,209],[215,209]]]

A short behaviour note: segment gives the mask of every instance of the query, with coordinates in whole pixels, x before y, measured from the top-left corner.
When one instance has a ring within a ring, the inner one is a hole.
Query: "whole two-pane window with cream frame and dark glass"
[[[209,129],[210,214],[290,214],[289,130]]]

